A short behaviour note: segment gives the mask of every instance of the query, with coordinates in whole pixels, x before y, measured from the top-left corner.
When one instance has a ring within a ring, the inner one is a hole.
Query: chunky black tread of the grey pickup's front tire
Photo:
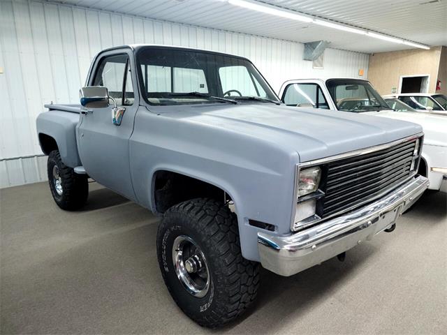
[[[221,327],[244,313],[255,300],[259,287],[259,265],[242,257],[237,218],[223,202],[207,198],[181,202],[166,211],[163,221],[177,215],[189,216],[190,222],[196,225],[194,229],[206,234],[214,246],[210,258],[221,262],[221,271],[215,273],[219,291],[223,291],[216,292],[219,301],[212,313],[193,319],[205,327]],[[159,237],[163,236],[162,230],[163,223],[159,225]],[[169,286],[168,290],[182,308]],[[189,315],[185,308],[182,309]]]

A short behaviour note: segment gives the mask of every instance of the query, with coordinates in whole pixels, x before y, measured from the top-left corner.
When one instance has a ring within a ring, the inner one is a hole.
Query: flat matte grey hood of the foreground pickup
[[[168,110],[169,108],[169,110]],[[296,151],[300,161],[342,154],[392,142],[422,132],[406,121],[313,108],[268,103],[181,105],[150,108],[163,117],[217,127]]]

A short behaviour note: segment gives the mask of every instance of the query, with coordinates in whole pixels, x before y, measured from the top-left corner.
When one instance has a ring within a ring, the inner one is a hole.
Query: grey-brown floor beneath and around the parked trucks
[[[46,183],[1,197],[1,334],[207,334],[166,290],[158,218],[91,184],[87,207]],[[289,278],[261,274],[256,306],[214,334],[446,334],[446,193],[425,193],[391,234]]]

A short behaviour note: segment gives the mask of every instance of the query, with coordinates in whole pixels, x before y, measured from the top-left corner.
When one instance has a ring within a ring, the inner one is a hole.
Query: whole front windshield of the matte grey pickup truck
[[[142,47],[136,59],[143,96],[152,105],[280,103],[247,59],[166,47]]]

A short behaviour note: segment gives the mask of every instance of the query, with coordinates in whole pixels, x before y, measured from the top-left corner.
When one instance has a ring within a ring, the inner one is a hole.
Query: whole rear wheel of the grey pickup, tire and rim
[[[89,183],[86,174],[76,174],[61,161],[58,150],[50,152],[47,161],[48,184],[54,202],[67,211],[80,209],[87,202]]]

